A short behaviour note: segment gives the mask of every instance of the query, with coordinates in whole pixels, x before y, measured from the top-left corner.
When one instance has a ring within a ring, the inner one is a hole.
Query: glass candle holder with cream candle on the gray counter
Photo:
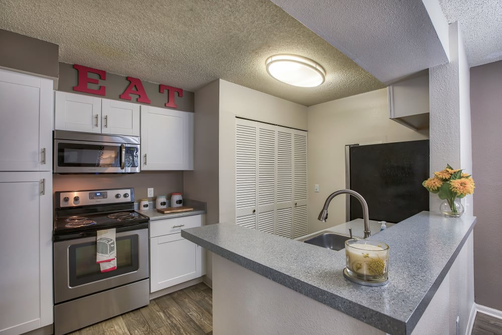
[[[361,282],[383,283],[388,279],[389,246],[378,241],[345,241],[346,273]],[[357,282],[357,281],[356,281]]]

